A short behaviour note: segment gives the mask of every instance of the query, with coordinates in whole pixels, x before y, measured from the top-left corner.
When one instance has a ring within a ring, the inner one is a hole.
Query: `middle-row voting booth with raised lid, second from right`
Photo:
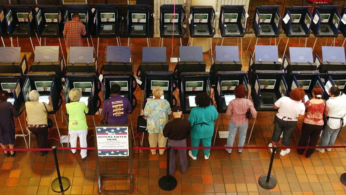
[[[290,61],[287,56],[284,56],[282,64],[288,74],[288,82],[291,80],[293,71],[317,70],[316,63],[313,62],[311,48],[290,47]]]

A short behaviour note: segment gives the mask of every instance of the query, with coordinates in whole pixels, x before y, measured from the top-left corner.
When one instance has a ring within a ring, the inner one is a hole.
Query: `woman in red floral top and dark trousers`
[[[305,103],[307,113],[303,119],[302,134],[298,146],[306,146],[309,139],[309,146],[316,146],[317,144],[318,136],[324,124],[323,111],[326,113],[326,116],[328,116],[326,101],[321,99],[322,93],[321,87],[314,87],[312,89],[313,98]],[[297,151],[302,155],[304,149],[297,149]],[[309,158],[314,151],[315,149],[308,149],[305,154],[306,158]]]

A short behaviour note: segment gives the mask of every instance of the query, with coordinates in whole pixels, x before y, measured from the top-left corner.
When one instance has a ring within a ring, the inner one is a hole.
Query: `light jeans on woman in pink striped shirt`
[[[246,138],[246,132],[249,122],[245,122],[243,125],[235,125],[232,121],[229,121],[227,146],[232,147],[234,138],[236,137],[237,131],[239,130],[239,142],[238,147],[243,147]],[[226,149],[228,152],[232,152],[232,149]],[[241,152],[243,149],[238,149]]]

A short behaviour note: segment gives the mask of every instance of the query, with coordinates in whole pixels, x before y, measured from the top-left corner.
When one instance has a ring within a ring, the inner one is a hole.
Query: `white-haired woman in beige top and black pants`
[[[46,104],[38,102],[39,96],[38,91],[32,90],[29,93],[30,101],[25,102],[27,128],[35,135],[38,148],[48,148],[47,111],[53,110],[52,99],[49,96],[49,104]],[[48,151],[41,151],[40,155],[44,156],[47,153]]]

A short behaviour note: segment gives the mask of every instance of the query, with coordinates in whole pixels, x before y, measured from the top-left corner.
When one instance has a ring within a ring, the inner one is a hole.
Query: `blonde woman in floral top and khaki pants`
[[[147,129],[149,133],[150,147],[166,147],[167,138],[163,136],[162,130],[168,122],[168,115],[172,113],[170,103],[165,99],[160,99],[163,90],[160,86],[153,88],[154,99],[148,101],[144,108],[144,117],[147,118]],[[165,150],[159,150],[162,155]],[[151,150],[156,154],[156,150]]]

